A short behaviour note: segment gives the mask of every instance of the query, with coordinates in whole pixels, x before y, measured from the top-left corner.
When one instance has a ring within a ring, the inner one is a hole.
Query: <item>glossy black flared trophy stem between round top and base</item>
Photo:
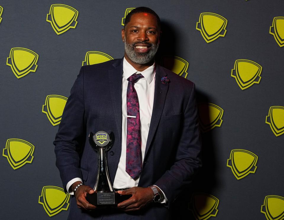
[[[112,184],[109,180],[109,171],[107,168],[106,149],[100,148],[98,152],[98,175],[95,192],[114,192]]]

